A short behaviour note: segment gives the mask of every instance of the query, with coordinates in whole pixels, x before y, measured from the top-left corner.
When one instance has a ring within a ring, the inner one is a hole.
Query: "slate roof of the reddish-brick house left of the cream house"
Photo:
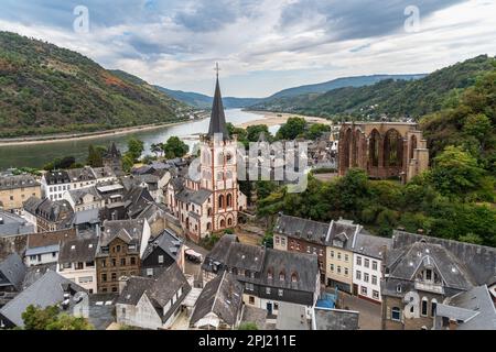
[[[328,223],[281,215],[273,231],[291,238],[325,244],[328,227]]]

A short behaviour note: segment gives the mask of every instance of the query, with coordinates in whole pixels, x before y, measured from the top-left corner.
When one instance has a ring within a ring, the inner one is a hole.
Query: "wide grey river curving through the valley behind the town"
[[[260,114],[241,111],[240,109],[226,110],[226,120],[234,124],[240,124],[263,118]],[[120,135],[106,135],[89,140],[74,140],[64,142],[42,143],[0,146],[0,170],[9,167],[35,167],[41,168],[46,163],[57,157],[72,155],[78,162],[84,162],[88,155],[88,146],[109,145],[116,142],[118,148],[122,152],[127,150],[127,140],[134,136],[144,142],[144,154],[151,154],[150,145],[153,143],[164,143],[170,136],[181,138],[192,150],[198,141],[198,134],[208,131],[209,119],[186,122],[173,127],[163,127],[155,130],[132,132]],[[278,125],[270,127],[271,133],[279,129]]]

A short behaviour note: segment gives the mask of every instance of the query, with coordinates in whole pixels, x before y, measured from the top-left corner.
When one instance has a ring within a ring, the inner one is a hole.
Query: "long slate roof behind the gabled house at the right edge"
[[[435,243],[445,248],[460,263],[464,263],[476,285],[487,284],[496,275],[496,249],[457,242],[452,240],[432,238],[409,233],[405,231],[395,231],[392,237],[392,248],[399,249],[413,242],[423,240],[428,243]]]

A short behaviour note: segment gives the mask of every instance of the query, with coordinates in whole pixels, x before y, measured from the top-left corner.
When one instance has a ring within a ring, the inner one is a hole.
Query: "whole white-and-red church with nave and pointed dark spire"
[[[235,228],[238,212],[247,206],[238,185],[237,138],[227,130],[218,72],[208,133],[201,136],[200,151],[200,177],[176,175],[169,183],[165,198],[184,235],[195,242]]]

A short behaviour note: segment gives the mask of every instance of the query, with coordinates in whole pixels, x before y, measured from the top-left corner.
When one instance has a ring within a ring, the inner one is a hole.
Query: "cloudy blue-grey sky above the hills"
[[[496,0],[0,0],[0,30],[208,95],[219,62],[224,96],[266,97],[495,55],[495,13]]]

